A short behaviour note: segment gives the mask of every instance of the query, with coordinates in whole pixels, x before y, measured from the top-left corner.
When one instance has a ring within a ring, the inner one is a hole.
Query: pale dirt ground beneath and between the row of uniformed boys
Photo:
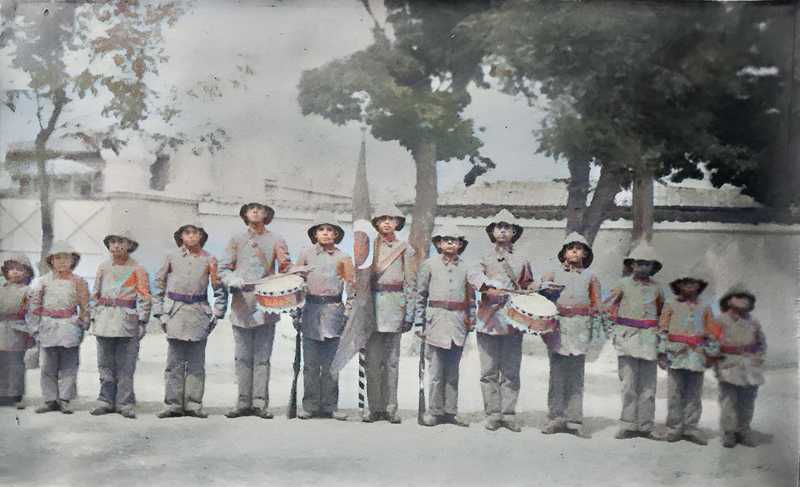
[[[281,325],[282,326],[282,325]],[[474,337],[470,340],[474,341]],[[527,337],[526,340],[538,341]],[[348,422],[285,417],[294,353],[283,328],[272,359],[271,406],[276,418],[222,416],[234,403],[233,338],[222,322],[209,339],[206,420],[157,419],[163,398],[166,341],[145,337],[136,375],[136,420],[93,417],[98,389],[94,338],[84,341],[76,414],[37,415],[39,370],[28,372],[24,411],[0,408],[0,485],[520,485],[520,486],[792,486],[797,482],[797,369],[771,370],[759,391],[753,427],[760,445],[724,449],[718,432],[717,384],[706,374],[701,427],[709,445],[615,440],[619,380],[609,346],[587,366],[584,411],[591,439],[542,435],[547,361],[542,348],[523,359],[518,410],[525,428],[515,434],[483,428],[478,356],[462,360],[459,407],[470,428],[416,424],[417,358],[401,362],[401,425],[358,421],[355,361],[340,379]],[[302,381],[301,381],[302,391]],[[666,416],[666,375],[659,371],[657,421]]]

